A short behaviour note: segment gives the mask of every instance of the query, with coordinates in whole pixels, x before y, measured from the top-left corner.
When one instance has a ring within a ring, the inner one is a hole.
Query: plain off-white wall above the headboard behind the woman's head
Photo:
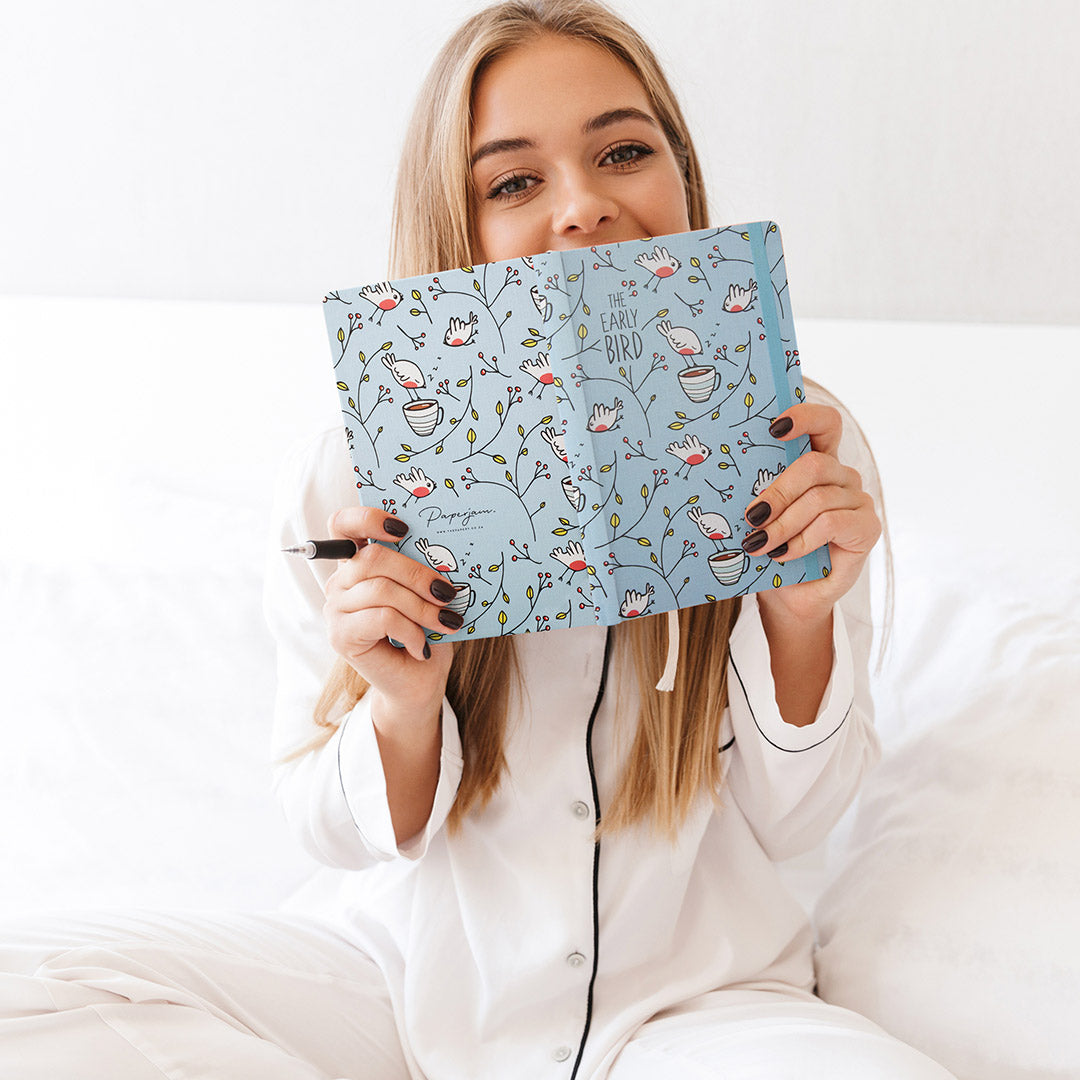
[[[0,293],[313,302],[383,273],[464,0],[3,0]],[[714,220],[781,222],[797,314],[1080,321],[1080,4],[616,0]]]

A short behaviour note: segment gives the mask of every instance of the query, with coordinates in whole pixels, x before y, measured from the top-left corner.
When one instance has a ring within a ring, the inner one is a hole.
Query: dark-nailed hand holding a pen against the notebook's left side
[[[449,581],[392,548],[365,542],[399,542],[402,537],[388,531],[388,523],[405,526],[400,517],[370,507],[348,507],[330,515],[329,536],[354,540],[360,550],[339,563],[327,581],[323,615],[334,651],[388,704],[407,711],[442,701],[454,657],[449,643],[429,645],[424,627],[449,634],[462,620],[445,610],[455,595]],[[395,648],[388,637],[405,648]]]

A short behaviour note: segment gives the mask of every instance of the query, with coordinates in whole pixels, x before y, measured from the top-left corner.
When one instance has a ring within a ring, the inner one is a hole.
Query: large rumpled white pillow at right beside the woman
[[[996,630],[1013,674],[867,780],[815,909],[818,993],[962,1080],[1065,1080],[1080,1077],[1080,627]]]

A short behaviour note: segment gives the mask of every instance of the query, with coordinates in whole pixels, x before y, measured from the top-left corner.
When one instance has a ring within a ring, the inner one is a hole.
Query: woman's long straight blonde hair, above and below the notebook
[[[443,48],[420,91],[397,176],[391,276],[436,273],[474,260],[473,86],[497,56],[545,33],[589,41],[634,71],[681,166],[690,228],[707,227],[701,167],[686,121],[642,38],[591,0],[511,0],[465,22]],[[672,692],[654,686],[667,647],[666,617],[647,616],[612,630],[616,662],[630,662],[636,672],[639,706],[617,793],[604,808],[603,832],[640,822],[674,839],[703,792],[718,799],[728,639],[740,605],[734,598],[678,612],[678,676]],[[513,637],[455,646],[446,696],[458,716],[464,770],[449,815],[451,831],[460,828],[471,811],[482,810],[499,786],[507,764],[510,693],[518,679]],[[285,760],[326,743],[340,717],[367,689],[339,658],[315,706],[321,732]]]

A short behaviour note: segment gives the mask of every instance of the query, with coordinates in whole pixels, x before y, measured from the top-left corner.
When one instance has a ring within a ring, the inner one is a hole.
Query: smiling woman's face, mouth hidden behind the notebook
[[[678,163],[637,77],[545,36],[495,60],[473,93],[477,261],[690,228]]]

